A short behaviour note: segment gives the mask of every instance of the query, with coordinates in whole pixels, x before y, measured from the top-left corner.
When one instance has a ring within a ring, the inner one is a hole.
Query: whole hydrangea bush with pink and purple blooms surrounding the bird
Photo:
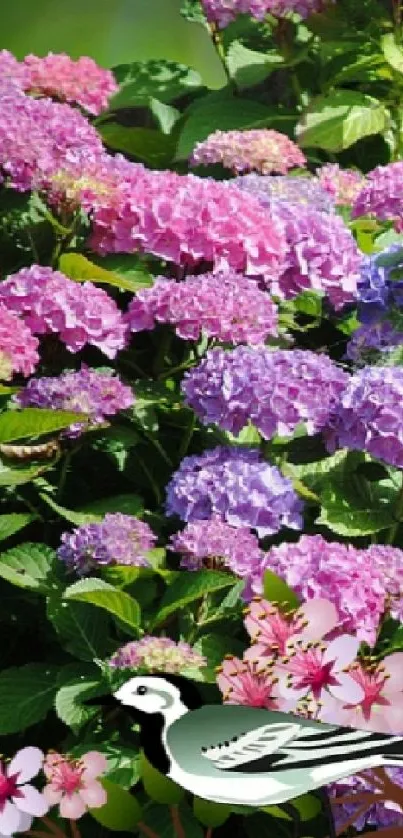
[[[0,838],[394,838],[403,769],[208,804],[87,703],[403,735],[400,3],[182,12],[218,91],[0,52]]]

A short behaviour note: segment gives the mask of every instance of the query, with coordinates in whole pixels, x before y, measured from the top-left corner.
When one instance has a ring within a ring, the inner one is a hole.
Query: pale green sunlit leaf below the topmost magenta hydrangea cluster
[[[241,41],[232,41],[227,52],[228,70],[241,90],[260,84],[281,64],[284,64],[284,58],[275,50],[255,52]]]

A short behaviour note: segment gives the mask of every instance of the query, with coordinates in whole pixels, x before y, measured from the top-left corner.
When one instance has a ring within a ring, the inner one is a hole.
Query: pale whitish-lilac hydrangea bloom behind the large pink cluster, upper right
[[[333,212],[332,198],[325,188],[312,177],[287,177],[282,175],[258,175],[255,173],[237,177],[231,183],[259,198],[267,207],[279,201],[309,207],[318,212]]]

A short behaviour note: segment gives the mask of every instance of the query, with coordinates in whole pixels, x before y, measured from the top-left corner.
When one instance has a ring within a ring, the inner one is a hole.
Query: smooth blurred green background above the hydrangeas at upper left
[[[1,0],[0,48],[90,55],[105,67],[169,58],[198,70],[209,87],[225,77],[208,33],[179,14],[180,0]]]

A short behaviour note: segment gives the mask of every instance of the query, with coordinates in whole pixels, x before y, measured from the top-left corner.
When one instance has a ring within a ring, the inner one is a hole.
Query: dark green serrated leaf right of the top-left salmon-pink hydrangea
[[[141,106],[150,98],[169,103],[203,86],[195,70],[162,58],[122,64],[114,73],[120,90],[110,100],[110,110]]]

